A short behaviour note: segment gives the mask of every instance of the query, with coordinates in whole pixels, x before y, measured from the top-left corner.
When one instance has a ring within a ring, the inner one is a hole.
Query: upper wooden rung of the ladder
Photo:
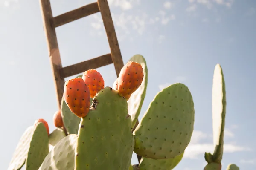
[[[95,14],[99,12],[99,7],[97,2],[90,3],[86,6],[82,6],[81,8],[74,9],[70,12],[66,12],[64,14],[58,15],[53,18],[55,28],[58,26],[62,26],[66,23],[70,23],[72,21],[81,19],[83,17],[87,17],[91,14]]]

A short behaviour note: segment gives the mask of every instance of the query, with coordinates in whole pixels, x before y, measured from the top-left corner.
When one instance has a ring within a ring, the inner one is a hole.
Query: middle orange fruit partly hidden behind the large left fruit
[[[86,70],[82,79],[89,87],[91,98],[93,98],[101,89],[104,89],[104,79],[95,69]]]

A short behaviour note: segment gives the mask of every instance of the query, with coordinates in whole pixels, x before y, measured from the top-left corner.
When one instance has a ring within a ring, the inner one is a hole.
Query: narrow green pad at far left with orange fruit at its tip
[[[38,170],[49,153],[49,138],[43,123],[36,124],[26,159],[26,170]]]

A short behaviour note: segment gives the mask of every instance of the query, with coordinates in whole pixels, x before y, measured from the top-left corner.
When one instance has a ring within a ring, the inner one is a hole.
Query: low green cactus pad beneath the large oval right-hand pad
[[[180,163],[184,153],[169,159],[151,159],[142,157],[140,160],[140,170],[172,170]]]

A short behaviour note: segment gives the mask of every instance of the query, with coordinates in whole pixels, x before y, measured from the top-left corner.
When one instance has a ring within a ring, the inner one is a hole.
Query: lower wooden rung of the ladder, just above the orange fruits
[[[106,54],[93,58],[81,63],[76,63],[70,66],[63,67],[61,69],[61,77],[66,78],[72,75],[77,75],[79,73],[85,72],[87,69],[96,69],[102,66],[107,66],[112,64],[111,54]]]

